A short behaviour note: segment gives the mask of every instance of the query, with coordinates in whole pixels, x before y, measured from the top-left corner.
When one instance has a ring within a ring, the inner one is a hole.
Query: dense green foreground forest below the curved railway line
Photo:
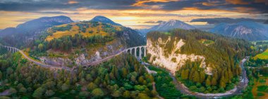
[[[19,53],[0,56],[0,93],[10,98],[154,98],[154,78],[135,57],[123,54],[89,69],[51,71]],[[5,97],[0,97],[5,98]]]

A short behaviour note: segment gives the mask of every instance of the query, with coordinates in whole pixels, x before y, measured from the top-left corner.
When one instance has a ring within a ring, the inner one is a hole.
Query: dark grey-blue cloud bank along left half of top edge
[[[132,6],[135,0],[4,0],[0,1],[0,11],[50,11],[55,9],[66,9],[75,11],[76,8],[90,9],[138,9],[140,7]]]

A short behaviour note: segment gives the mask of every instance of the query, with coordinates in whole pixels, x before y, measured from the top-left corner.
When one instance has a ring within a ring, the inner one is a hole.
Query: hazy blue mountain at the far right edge
[[[268,30],[260,23],[243,21],[239,23],[219,23],[209,30],[229,37],[238,37],[245,40],[268,40]]]

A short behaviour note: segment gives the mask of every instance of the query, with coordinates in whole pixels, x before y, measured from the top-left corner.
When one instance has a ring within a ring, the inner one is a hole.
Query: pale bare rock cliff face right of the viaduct
[[[172,74],[175,74],[187,60],[190,60],[191,62],[200,61],[201,66],[206,68],[206,73],[211,74],[210,69],[206,66],[204,56],[180,54],[180,48],[185,44],[182,39],[175,38],[175,41],[173,42],[173,50],[171,50],[170,54],[166,54],[167,52],[164,47],[166,46],[166,43],[170,41],[171,37],[166,41],[162,40],[161,37],[159,37],[157,41],[152,41],[150,38],[147,38],[147,53],[149,54],[148,56],[150,56],[149,62],[162,66],[171,71]]]

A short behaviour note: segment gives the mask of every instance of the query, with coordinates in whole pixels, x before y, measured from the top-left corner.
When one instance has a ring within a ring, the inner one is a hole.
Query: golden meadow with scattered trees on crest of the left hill
[[[46,40],[50,41],[54,38],[59,38],[66,35],[74,36],[76,34],[81,34],[83,37],[91,37],[94,35],[106,36],[109,35],[109,33],[115,33],[116,31],[120,30],[122,30],[121,26],[96,21],[69,23],[49,28],[47,32],[51,33],[51,35],[49,35]]]

